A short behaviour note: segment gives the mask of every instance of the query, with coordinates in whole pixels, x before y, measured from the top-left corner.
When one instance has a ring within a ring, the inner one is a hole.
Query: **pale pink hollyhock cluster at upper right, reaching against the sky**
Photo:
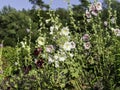
[[[85,13],[87,17],[87,21],[90,21],[90,18],[92,17],[92,15],[97,16],[101,10],[102,10],[101,2],[90,4],[89,8],[86,10],[86,13]]]

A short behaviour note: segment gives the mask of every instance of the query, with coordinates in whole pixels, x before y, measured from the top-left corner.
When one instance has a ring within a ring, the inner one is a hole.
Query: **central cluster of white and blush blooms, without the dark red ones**
[[[56,42],[55,45],[46,45],[45,49],[48,53],[48,63],[55,64],[55,67],[59,67],[59,62],[63,62],[68,58],[66,52],[70,52],[75,48],[75,43],[70,38],[70,31],[68,27],[60,28],[57,25],[50,27],[50,35],[52,40]],[[73,56],[72,53],[69,56]]]

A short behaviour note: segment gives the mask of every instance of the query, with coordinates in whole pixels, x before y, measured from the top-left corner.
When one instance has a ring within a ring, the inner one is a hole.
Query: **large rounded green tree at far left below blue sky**
[[[5,6],[0,11],[0,41],[4,40],[5,46],[15,46],[18,38],[21,41],[28,35],[26,29],[30,27],[29,19],[32,17],[28,12],[17,11],[10,6]],[[31,25],[34,36],[38,26],[34,21],[31,22]]]

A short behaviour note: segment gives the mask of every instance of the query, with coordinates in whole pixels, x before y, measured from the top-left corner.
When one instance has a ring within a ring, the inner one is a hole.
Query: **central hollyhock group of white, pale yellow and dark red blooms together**
[[[60,25],[52,25],[49,29],[49,35],[52,38],[47,39],[39,36],[36,40],[37,48],[34,50],[34,61],[37,67],[42,67],[44,60],[48,60],[48,64],[54,63],[55,67],[59,67],[59,62],[65,61],[68,57],[73,57],[71,51],[76,47],[76,44],[70,38],[69,28]],[[54,45],[52,42],[54,42]],[[42,49],[40,47],[44,48]],[[70,52],[69,55],[66,52]]]

